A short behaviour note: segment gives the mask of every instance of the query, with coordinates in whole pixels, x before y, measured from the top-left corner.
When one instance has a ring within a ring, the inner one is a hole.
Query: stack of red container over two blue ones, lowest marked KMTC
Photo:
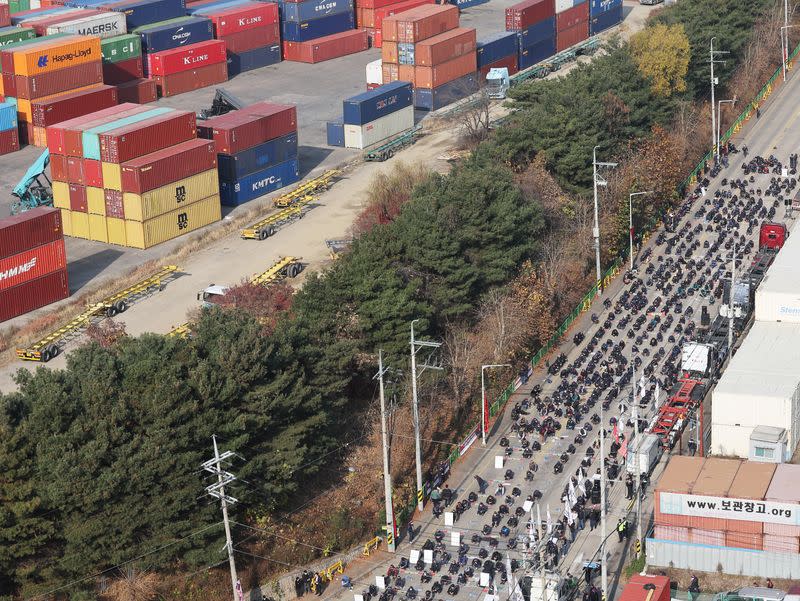
[[[222,204],[237,206],[300,179],[297,109],[259,102],[198,126],[213,140]]]

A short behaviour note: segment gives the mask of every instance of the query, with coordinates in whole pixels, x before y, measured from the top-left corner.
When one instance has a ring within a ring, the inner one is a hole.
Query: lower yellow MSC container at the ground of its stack
[[[127,214],[127,213],[126,213]],[[150,248],[222,219],[219,194],[147,221],[125,221],[128,246]]]

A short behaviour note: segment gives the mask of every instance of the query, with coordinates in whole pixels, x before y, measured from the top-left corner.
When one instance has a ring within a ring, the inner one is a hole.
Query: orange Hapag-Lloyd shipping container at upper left
[[[100,38],[68,36],[14,52],[14,73],[30,77],[101,59]]]

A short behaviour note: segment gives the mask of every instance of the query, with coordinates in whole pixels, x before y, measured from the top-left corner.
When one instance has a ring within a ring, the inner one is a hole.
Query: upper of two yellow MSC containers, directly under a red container
[[[147,221],[213,194],[219,194],[219,178],[216,169],[209,169],[144,194],[125,192],[122,204],[125,219]]]

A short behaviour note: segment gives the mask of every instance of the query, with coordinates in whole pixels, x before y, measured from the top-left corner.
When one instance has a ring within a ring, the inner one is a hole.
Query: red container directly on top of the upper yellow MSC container
[[[122,191],[143,194],[216,166],[214,142],[189,140],[123,163]]]

